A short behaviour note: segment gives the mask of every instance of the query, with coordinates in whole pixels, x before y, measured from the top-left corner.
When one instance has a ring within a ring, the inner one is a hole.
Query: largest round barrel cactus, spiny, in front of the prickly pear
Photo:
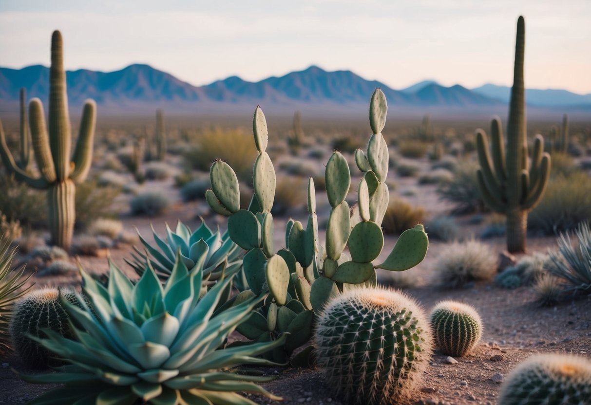
[[[350,289],[317,324],[318,364],[350,404],[390,404],[413,393],[428,364],[431,334],[421,308],[400,292]]]

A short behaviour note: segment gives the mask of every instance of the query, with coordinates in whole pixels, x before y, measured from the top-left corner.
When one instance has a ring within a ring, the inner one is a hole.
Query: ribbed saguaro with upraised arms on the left
[[[31,138],[37,168],[41,175],[33,177],[14,162],[6,144],[0,122],[0,155],[8,172],[33,188],[47,190],[48,223],[53,244],[69,249],[76,221],[75,182],[86,179],[92,163],[95,135],[95,109],[93,100],[87,100],[80,122],[80,135],[70,160],[72,135],[66,94],[66,73],[63,67],[63,44],[60,31],[51,37],[49,130],[46,129],[41,100],[29,104]],[[49,135],[47,135],[49,134]]]

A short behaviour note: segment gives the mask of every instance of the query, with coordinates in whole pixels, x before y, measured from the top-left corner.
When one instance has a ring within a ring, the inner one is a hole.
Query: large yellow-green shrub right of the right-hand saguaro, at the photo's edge
[[[557,234],[591,221],[591,176],[577,171],[551,177],[538,205],[528,215],[528,228]]]

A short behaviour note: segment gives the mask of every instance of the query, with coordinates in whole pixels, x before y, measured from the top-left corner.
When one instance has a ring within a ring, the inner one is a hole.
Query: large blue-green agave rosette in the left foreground
[[[203,260],[207,244],[197,243]],[[262,296],[248,295],[214,313],[231,277],[200,298],[203,272],[187,269],[180,254],[164,285],[150,264],[135,285],[112,263],[106,288],[80,273],[86,300],[79,294],[76,304],[61,300],[76,339],[47,329],[47,338],[35,338],[71,364],[56,368],[60,373],[20,375],[31,383],[65,385],[30,404],[255,404],[235,391],[278,399],[256,384],[272,377],[227,370],[275,365],[255,356],[285,339],[218,350]]]

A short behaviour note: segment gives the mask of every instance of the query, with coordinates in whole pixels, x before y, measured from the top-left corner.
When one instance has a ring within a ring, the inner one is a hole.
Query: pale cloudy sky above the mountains
[[[196,86],[314,64],[402,89],[421,80],[511,86],[525,17],[525,84],[591,93],[591,0],[1,0],[0,66],[147,63]]]

